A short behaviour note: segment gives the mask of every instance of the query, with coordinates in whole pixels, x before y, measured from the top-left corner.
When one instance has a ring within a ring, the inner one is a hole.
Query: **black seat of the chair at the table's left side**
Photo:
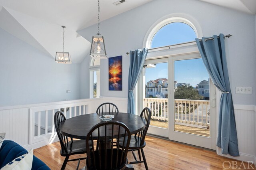
[[[69,141],[66,148],[67,148],[68,152],[65,152],[64,149],[60,150],[61,156],[86,153],[85,140],[73,140],[73,142]]]

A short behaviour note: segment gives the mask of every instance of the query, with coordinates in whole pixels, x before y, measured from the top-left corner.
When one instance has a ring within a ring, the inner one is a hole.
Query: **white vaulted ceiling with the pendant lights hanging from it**
[[[126,0],[115,6],[116,1],[100,0],[101,21],[152,0]],[[256,14],[256,0],[200,1]],[[90,50],[90,42],[77,31],[96,24],[97,16],[97,0],[0,0],[0,27],[49,56],[62,51],[61,26],[66,26],[65,51],[73,63],[80,63]]]

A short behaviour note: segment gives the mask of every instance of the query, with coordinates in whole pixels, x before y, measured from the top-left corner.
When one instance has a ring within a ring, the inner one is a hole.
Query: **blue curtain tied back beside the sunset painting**
[[[135,101],[133,89],[140,77],[146,56],[148,54],[148,49],[136,49],[135,51],[130,51],[130,69],[128,76],[128,108],[127,113],[135,114]]]

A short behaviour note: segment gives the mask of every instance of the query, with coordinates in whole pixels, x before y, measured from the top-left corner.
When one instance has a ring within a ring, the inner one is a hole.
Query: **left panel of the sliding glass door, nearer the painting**
[[[146,61],[143,74],[143,105],[152,112],[148,132],[168,137],[168,59]]]

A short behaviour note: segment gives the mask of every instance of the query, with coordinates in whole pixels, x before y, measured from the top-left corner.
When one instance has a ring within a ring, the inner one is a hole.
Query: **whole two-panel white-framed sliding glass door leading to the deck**
[[[146,60],[143,75],[148,133],[216,149],[215,87],[200,55]]]

